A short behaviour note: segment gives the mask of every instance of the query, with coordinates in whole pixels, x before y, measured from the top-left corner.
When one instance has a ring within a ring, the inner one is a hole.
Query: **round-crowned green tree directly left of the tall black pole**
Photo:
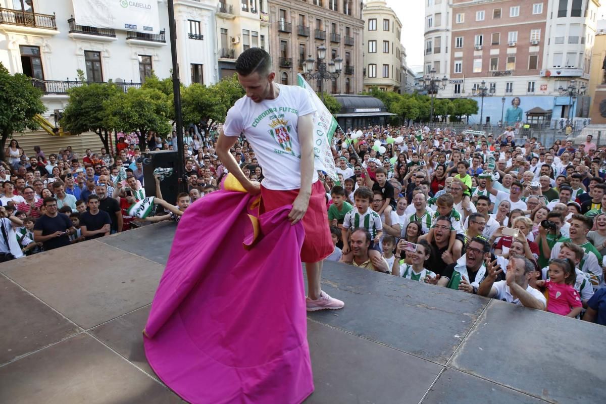
[[[139,147],[145,150],[149,131],[170,133],[170,107],[167,95],[155,88],[128,88],[126,93],[103,103],[108,124],[116,130],[139,131]]]

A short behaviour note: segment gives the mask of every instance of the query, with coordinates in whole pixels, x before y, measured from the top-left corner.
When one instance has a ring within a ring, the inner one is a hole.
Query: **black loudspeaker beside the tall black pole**
[[[156,195],[156,180],[153,177],[153,170],[158,167],[172,168],[173,174],[170,177],[165,177],[160,182],[160,191],[162,191],[162,199],[169,204],[177,203],[177,194],[179,193],[177,156],[175,150],[155,150],[143,153],[143,179],[146,196],[158,196]]]

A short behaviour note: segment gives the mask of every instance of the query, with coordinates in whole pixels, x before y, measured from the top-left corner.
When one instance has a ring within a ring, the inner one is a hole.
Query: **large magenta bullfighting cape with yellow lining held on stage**
[[[300,403],[313,392],[291,207],[255,217],[228,176],[181,218],[144,331],[145,354],[191,403]]]

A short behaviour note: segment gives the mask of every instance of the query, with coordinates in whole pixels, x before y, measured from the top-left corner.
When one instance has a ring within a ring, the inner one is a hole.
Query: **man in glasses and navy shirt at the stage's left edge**
[[[58,212],[57,200],[51,196],[44,198],[44,207],[44,216],[34,225],[34,241],[42,243],[45,251],[70,245],[69,236],[76,233],[72,220]]]

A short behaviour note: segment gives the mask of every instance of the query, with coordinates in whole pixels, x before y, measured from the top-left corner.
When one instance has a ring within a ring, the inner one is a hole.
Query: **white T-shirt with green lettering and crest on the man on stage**
[[[225,136],[240,136],[255,150],[263,168],[263,187],[269,190],[297,190],[301,188],[301,145],[297,132],[299,116],[316,111],[304,88],[277,85],[276,99],[255,102],[242,97],[227,112],[223,125]],[[318,180],[313,170],[312,184]]]

